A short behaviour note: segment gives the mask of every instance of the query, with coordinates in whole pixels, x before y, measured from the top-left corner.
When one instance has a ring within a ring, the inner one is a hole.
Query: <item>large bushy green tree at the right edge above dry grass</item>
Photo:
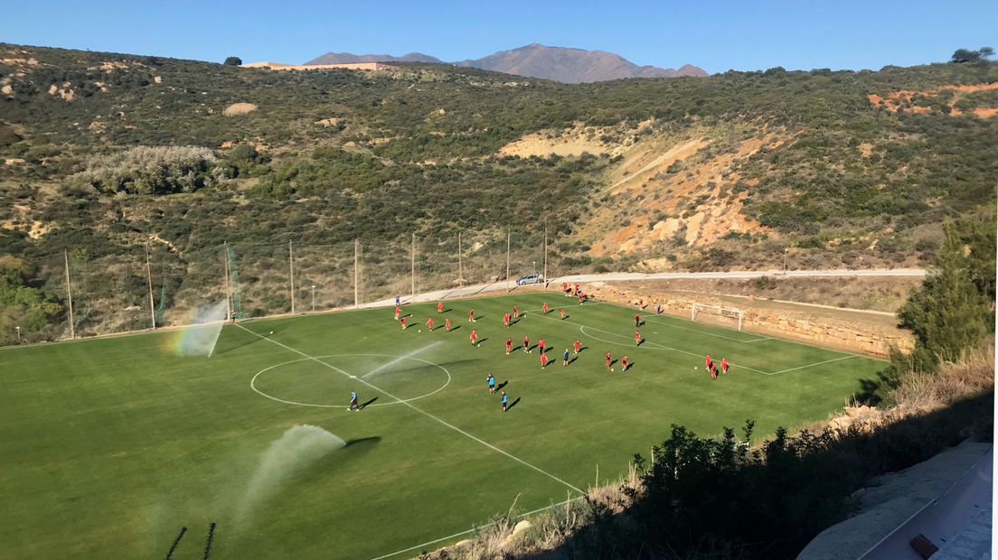
[[[993,214],[946,222],[943,232],[929,274],[897,312],[915,336],[911,354],[896,357],[902,371],[935,371],[994,334]]]

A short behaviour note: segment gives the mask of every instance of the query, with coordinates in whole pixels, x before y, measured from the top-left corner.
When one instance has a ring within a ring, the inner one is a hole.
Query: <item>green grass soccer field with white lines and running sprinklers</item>
[[[507,329],[514,304],[526,315]],[[444,311],[404,306],[404,331],[392,309],[250,321],[227,326],[211,358],[178,356],[176,332],[0,350],[3,556],[162,558],[187,527],[172,557],[202,558],[215,523],[212,558],[411,557],[514,501],[531,511],[597,471],[615,479],[672,423],[708,435],[751,419],[761,437],[825,418],[883,367],[645,314],[636,347],[633,309],[558,293]],[[547,343],[544,371],[536,349],[506,356],[507,336],[516,349],[524,335]],[[632,368],[609,372],[607,352]],[[712,380],[705,354],[730,373]],[[347,411],[350,391],[362,411]],[[284,435],[305,424],[346,444]]]

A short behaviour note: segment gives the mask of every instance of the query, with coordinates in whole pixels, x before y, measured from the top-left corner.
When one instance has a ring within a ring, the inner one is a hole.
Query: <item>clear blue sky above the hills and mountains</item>
[[[418,51],[445,61],[529,43],[637,64],[879,69],[998,48],[998,1],[280,2],[6,0],[0,42],[221,62]]]

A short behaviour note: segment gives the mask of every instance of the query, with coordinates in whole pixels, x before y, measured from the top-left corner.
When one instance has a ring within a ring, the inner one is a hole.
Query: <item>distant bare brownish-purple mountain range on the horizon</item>
[[[306,62],[311,64],[345,64],[359,62],[427,62],[446,64],[436,57],[422,53],[409,53],[401,57],[391,55],[354,55],[351,53],[326,53]],[[605,82],[623,78],[675,78],[678,76],[707,76],[702,68],[684,65],[679,70],[657,66],[638,66],[624,57],[606,51],[586,51],[564,47],[546,47],[534,43],[511,51],[498,53],[475,60],[453,63],[527,76],[543,78],[566,84],[582,82]]]

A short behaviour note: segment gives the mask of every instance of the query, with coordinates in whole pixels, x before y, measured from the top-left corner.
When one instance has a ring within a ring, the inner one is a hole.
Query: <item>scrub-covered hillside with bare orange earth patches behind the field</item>
[[[995,64],[582,85],[396,65],[0,45],[0,257],[60,301],[69,250],[102,294],[77,322],[107,330],[148,320],[118,310],[147,305],[149,244],[167,316],[218,289],[223,241],[271,313],[289,240],[341,305],[355,238],[369,299],[404,287],[413,233],[428,287],[456,278],[458,232],[468,281],[504,275],[507,229],[514,273],[545,231],[557,274],[917,265],[944,218],[994,207]]]

